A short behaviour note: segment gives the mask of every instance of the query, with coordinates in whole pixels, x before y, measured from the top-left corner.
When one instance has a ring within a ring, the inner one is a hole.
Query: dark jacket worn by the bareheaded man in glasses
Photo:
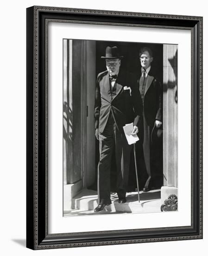
[[[138,77],[141,77],[141,72]],[[147,75],[144,97],[144,114],[146,122],[153,128],[155,120],[163,121],[162,116],[162,88],[152,68]]]

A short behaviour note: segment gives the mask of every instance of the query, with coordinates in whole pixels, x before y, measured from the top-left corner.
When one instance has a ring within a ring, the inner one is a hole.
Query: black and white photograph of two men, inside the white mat
[[[178,210],[177,48],[63,39],[64,217]]]

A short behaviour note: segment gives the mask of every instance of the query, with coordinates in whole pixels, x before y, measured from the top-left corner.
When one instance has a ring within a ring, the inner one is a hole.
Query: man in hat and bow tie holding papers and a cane
[[[138,133],[142,115],[141,96],[137,79],[120,69],[123,56],[117,47],[107,47],[107,70],[98,74],[95,91],[95,136],[100,141],[100,161],[98,164],[99,204],[95,212],[111,204],[110,169],[115,151],[117,169],[117,194],[119,203],[126,202],[131,145],[128,145],[123,126],[133,122],[132,134]]]

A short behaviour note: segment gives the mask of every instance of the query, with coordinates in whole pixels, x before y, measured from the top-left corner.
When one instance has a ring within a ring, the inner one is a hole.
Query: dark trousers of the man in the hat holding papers
[[[117,194],[119,199],[125,198],[128,184],[130,153],[132,145],[128,145],[125,134],[121,134],[110,117],[106,128],[99,133],[100,161],[98,164],[98,198],[110,203],[110,171],[112,154],[115,151],[117,169]]]

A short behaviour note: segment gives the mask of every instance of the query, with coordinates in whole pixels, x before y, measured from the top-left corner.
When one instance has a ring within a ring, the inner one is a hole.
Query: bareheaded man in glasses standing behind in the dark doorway
[[[147,192],[151,188],[152,179],[152,143],[151,132],[154,126],[157,128],[162,125],[162,92],[161,85],[151,68],[153,61],[152,51],[148,47],[143,47],[139,51],[141,70],[139,70],[139,91],[143,103],[143,118],[141,127],[141,140],[143,142],[143,153],[145,168],[148,178],[145,182],[143,191]]]

